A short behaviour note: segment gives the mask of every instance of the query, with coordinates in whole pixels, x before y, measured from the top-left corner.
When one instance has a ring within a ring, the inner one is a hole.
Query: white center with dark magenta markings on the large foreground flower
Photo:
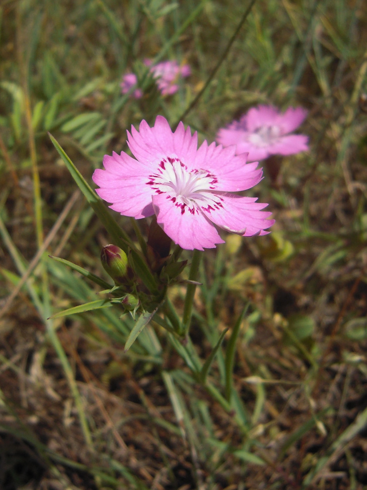
[[[167,199],[181,208],[184,214],[187,208],[190,213],[198,212],[198,208],[210,211],[222,206],[221,197],[214,194],[215,175],[206,170],[188,171],[178,158],[162,158],[156,173],[149,175],[148,185],[155,194],[167,194]]]

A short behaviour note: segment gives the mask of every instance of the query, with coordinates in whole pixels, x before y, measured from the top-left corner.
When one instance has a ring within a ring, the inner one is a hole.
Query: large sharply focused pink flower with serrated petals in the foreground
[[[153,127],[145,121],[139,132],[132,126],[127,153],[105,155],[105,170],[93,173],[97,194],[124,216],[136,219],[156,215],[164,232],[182,248],[214,248],[224,243],[217,227],[243,236],[265,235],[274,220],[260,211],[267,204],[233,192],[250,189],[262,177],[257,162],[246,163],[246,154],[235,147],[207,142],[198,148],[179,123],[175,132],[158,116]]]

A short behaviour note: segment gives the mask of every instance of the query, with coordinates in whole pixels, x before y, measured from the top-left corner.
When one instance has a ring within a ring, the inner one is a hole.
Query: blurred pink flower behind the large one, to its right
[[[289,134],[307,115],[301,107],[290,107],[283,114],[273,106],[253,107],[239,121],[218,131],[217,142],[236,145],[236,153],[249,152],[249,161],[263,160],[269,155],[291,155],[308,149],[308,137]]]

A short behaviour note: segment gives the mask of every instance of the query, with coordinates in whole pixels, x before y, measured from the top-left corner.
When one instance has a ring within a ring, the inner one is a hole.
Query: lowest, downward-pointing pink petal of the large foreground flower
[[[215,244],[224,243],[215,227],[200,210],[191,214],[188,208],[182,212],[166,194],[153,196],[153,207],[157,222],[177,245],[187,250],[215,248]]]

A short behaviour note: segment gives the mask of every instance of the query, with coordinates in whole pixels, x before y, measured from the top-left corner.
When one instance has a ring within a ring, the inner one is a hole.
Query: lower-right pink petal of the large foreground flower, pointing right
[[[256,202],[255,197],[221,196],[222,207],[217,209],[203,209],[208,220],[232,233],[245,237],[253,235],[266,235],[264,231],[275,222],[268,220],[269,211],[261,211],[267,204]]]

